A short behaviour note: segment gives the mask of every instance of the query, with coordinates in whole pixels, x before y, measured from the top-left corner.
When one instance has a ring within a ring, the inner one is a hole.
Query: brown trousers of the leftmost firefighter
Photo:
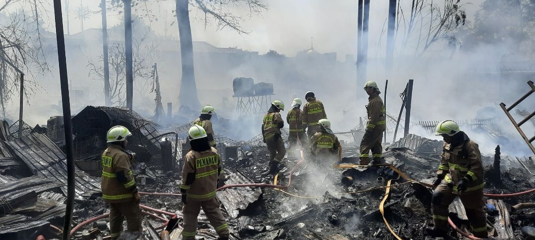
[[[129,232],[140,231],[141,208],[134,202],[110,203],[110,233],[111,239],[117,239],[123,231],[123,221],[126,218],[126,226]]]

